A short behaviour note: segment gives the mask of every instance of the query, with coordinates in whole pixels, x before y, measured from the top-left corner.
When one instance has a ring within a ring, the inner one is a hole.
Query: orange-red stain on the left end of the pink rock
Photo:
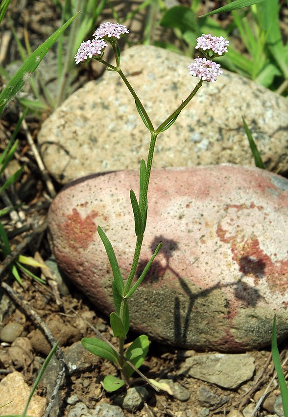
[[[67,220],[61,225],[61,229],[69,239],[70,246],[74,251],[85,250],[93,242],[97,232],[97,226],[93,220],[97,216],[98,213],[94,210],[83,218],[77,209],[72,209],[72,214],[67,214]]]

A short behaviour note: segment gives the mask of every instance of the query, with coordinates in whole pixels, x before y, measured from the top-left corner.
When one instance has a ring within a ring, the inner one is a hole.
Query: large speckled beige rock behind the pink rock
[[[123,52],[122,69],[154,126],[159,126],[198,80],[191,58],[153,46]],[[268,169],[288,170],[288,102],[237,74],[224,71],[204,83],[176,123],[156,143],[154,167],[219,163],[252,165],[245,118]],[[92,172],[136,169],[148,152],[149,132],[118,74],[104,72],[66,100],[38,135],[50,173],[66,183]]]

